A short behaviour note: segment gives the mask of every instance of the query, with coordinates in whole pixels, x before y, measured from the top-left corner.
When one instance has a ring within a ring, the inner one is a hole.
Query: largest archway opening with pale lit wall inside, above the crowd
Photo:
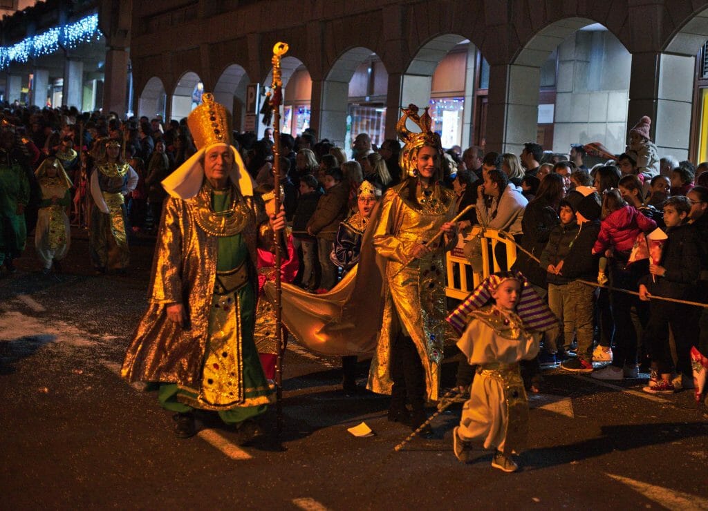
[[[525,142],[539,141],[546,150],[567,153],[571,143],[600,141],[622,152],[631,63],[615,31],[593,19],[563,18],[537,31],[508,66],[492,71],[503,73],[507,84],[506,97],[496,97],[504,104],[490,105],[495,118],[503,111],[503,132],[496,134],[503,150],[519,153]]]

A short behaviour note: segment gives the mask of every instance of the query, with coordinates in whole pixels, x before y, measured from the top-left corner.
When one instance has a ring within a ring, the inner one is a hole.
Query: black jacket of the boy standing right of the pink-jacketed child
[[[693,225],[683,224],[668,230],[659,266],[663,276],[646,275],[639,280],[652,295],[690,300],[700,277],[700,240]],[[656,282],[655,282],[656,281]]]

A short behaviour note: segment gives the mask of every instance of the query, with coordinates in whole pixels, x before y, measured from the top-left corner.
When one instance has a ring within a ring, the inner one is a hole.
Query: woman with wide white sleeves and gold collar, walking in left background
[[[137,173],[120,155],[120,142],[105,141],[105,154],[96,161],[89,182],[93,199],[89,244],[91,262],[98,273],[108,269],[125,271],[130,264],[125,196],[137,182]]]

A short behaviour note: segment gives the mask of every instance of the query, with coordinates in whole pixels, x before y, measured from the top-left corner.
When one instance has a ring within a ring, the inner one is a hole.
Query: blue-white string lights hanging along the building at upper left
[[[59,49],[59,45],[74,49],[87,42],[98,42],[101,37],[103,34],[98,30],[98,14],[91,14],[74,23],[25,37],[16,45],[0,47],[0,69],[5,69],[12,62],[24,63],[30,57],[52,54]]]

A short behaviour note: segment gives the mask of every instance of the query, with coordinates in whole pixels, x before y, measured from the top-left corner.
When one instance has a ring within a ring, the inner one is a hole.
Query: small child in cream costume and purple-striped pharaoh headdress
[[[477,366],[469,400],[453,432],[455,456],[467,461],[472,440],[495,447],[492,466],[513,472],[512,453],[525,448],[528,399],[519,371],[520,360],[539,351],[543,331],[558,319],[518,271],[487,277],[462,305],[447,317],[462,332],[457,347]]]

